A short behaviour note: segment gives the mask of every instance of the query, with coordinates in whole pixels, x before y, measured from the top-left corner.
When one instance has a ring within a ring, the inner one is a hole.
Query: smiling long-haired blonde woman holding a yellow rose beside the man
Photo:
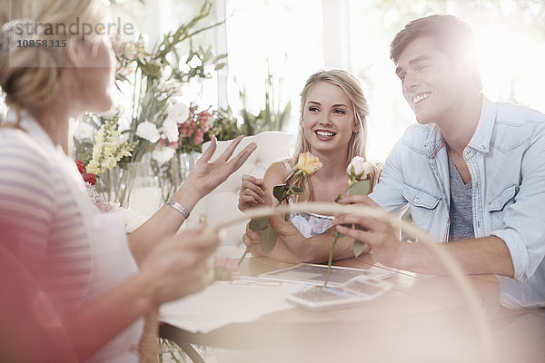
[[[335,201],[339,194],[346,194],[346,167],[354,156],[366,158],[365,122],[368,113],[362,85],[354,75],[342,70],[312,74],[301,93],[297,150],[291,160],[272,164],[263,180],[243,176],[239,209],[246,211],[276,202],[272,188],[277,184],[294,182],[301,152],[312,152],[320,159],[322,167],[297,185],[302,189],[302,195],[288,202]],[[375,179],[373,175],[372,180]],[[292,213],[289,220],[270,219],[278,235],[269,256],[292,263],[327,260],[333,234],[331,218],[312,213]],[[250,246],[253,255],[263,254],[258,232],[247,227],[243,242]],[[352,243],[349,238],[338,240],[334,258],[352,257]]]

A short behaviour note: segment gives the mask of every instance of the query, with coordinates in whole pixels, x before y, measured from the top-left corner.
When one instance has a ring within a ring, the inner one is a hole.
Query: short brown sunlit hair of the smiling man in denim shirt
[[[430,15],[412,20],[391,41],[390,58],[393,63],[398,63],[407,44],[421,36],[434,38],[437,47],[453,61],[470,60],[473,65],[473,82],[482,90],[475,36],[470,25],[454,15]]]

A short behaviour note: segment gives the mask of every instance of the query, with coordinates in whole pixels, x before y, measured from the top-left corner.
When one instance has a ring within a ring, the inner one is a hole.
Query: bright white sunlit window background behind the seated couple
[[[202,0],[118,0],[114,17],[134,23],[153,44],[198,12]],[[545,2],[542,0],[215,0],[223,25],[196,41],[228,54],[228,67],[213,79],[183,90],[186,102],[264,107],[265,79],[279,109],[291,102],[286,131],[296,132],[299,93],[306,78],[323,67],[342,67],[367,83],[372,114],[369,153],[383,161],[405,127],[414,122],[393,73],[389,44],[411,19],[453,14],[477,35],[484,93],[492,100],[530,105],[545,112]],[[195,42],[196,42],[195,41]]]

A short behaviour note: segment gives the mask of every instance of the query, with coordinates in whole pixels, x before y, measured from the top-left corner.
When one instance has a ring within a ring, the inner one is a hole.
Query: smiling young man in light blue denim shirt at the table
[[[451,242],[443,247],[468,274],[498,275],[502,305],[544,307],[545,115],[482,95],[473,48],[471,28],[452,15],[414,20],[396,34],[391,59],[418,123],[394,147],[371,198],[343,202],[400,213],[409,206],[416,225]],[[400,241],[385,223],[344,215],[336,224],[387,265],[445,271],[426,246]]]

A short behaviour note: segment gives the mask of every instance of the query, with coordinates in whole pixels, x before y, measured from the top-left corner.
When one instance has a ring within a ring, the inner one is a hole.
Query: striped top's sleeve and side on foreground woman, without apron
[[[40,142],[61,152],[49,140]],[[83,216],[67,182],[25,132],[0,129],[0,231],[62,308],[81,302],[91,274]]]

